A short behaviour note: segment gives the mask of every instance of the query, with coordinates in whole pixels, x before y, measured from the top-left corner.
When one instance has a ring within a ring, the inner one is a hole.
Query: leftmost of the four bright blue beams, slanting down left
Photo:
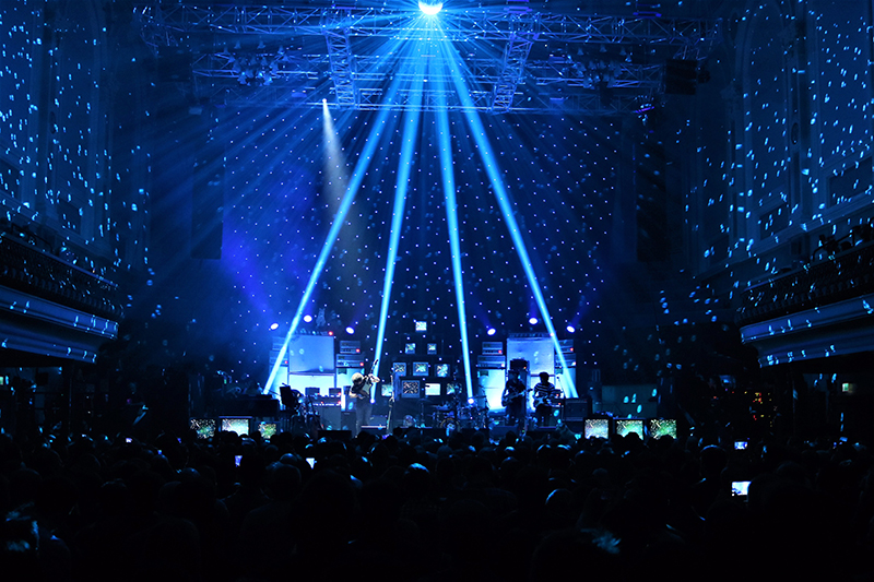
[[[393,94],[397,92],[397,84],[391,86],[390,91],[390,98],[393,98]],[[388,109],[380,111],[377,116],[377,120],[374,123],[374,132],[367,138],[367,141],[364,144],[364,150],[362,151],[361,156],[358,157],[358,162],[355,164],[355,170],[352,174],[352,178],[350,180],[349,187],[346,188],[346,192],[343,195],[343,200],[340,203],[340,207],[334,215],[333,224],[331,224],[331,229],[328,231],[328,236],[324,239],[324,245],[322,245],[321,251],[319,252],[319,257],[316,260],[316,265],[312,268],[312,273],[309,275],[309,282],[307,283],[306,289],[304,290],[304,296],[300,298],[300,304],[297,306],[297,311],[292,319],[292,325],[288,329],[288,333],[285,334],[285,341],[280,348],[280,353],[276,357],[275,364],[273,364],[273,368],[270,370],[270,376],[268,377],[267,384],[264,385],[264,393],[272,390],[273,382],[276,380],[276,375],[279,375],[282,360],[285,358],[285,354],[288,352],[288,344],[292,341],[292,336],[297,331],[297,326],[300,324],[300,318],[304,316],[304,310],[307,308],[309,304],[309,298],[312,296],[312,292],[316,288],[316,283],[318,283],[319,277],[321,276],[322,271],[324,271],[324,265],[328,262],[328,257],[331,254],[331,249],[336,242],[336,237],[340,235],[340,229],[343,227],[343,222],[346,218],[346,214],[349,214],[349,210],[352,207],[352,203],[355,201],[355,194],[358,192],[358,188],[364,180],[364,177],[367,174],[367,168],[370,166],[370,161],[374,157],[374,152],[376,152],[376,147],[379,144],[379,139],[382,135],[382,132],[386,129],[386,123],[389,119],[390,111]]]

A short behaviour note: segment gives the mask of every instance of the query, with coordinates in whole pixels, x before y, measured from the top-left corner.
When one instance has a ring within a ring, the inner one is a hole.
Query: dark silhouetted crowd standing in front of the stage
[[[90,582],[874,580],[865,447],[583,440],[564,427],[536,437],[1,435],[0,571]],[[732,495],[737,480],[751,482],[747,497]]]

